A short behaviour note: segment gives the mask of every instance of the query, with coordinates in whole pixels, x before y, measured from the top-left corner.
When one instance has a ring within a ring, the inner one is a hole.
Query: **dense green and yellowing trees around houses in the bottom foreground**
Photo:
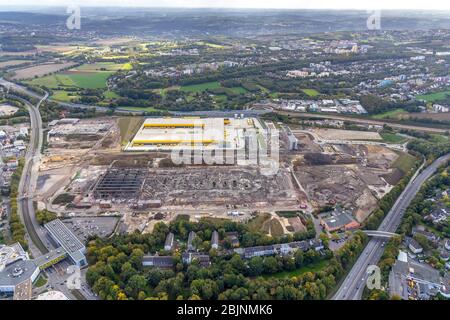
[[[326,250],[296,252],[292,257],[254,257],[242,259],[237,254],[223,255],[210,251],[212,264],[200,267],[196,262],[184,265],[178,253],[175,267],[170,270],[142,267],[142,256],[160,251],[170,230],[176,236],[186,236],[197,231],[200,245],[209,238],[212,230],[219,233],[229,230],[244,231],[245,225],[231,221],[190,223],[177,219],[169,226],[158,223],[151,234],[138,232],[115,236],[109,240],[95,239],[88,245],[89,270],[86,278],[93,290],[103,299],[325,299],[355,261],[366,236],[354,237],[334,254]],[[292,271],[326,260],[327,264],[315,273],[298,276],[271,277],[281,271]]]

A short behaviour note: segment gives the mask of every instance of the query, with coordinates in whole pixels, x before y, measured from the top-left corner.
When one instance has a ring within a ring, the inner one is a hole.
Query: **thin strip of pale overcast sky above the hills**
[[[448,0],[0,0],[0,6],[125,6],[279,9],[428,9],[450,10]]]

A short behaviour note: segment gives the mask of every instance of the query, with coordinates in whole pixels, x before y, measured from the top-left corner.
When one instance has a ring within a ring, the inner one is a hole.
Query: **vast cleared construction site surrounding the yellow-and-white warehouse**
[[[272,232],[292,233],[304,230],[298,217],[275,212],[340,205],[363,222],[402,176],[396,166],[401,152],[373,142],[374,134],[366,133],[367,143],[349,144],[255,118],[201,120],[127,119],[130,125],[124,126],[123,118],[97,118],[53,124],[40,167],[38,208],[70,218],[118,216],[117,230],[123,232],[148,232],[177,214],[246,221],[264,212],[270,214],[270,225],[281,225],[271,227]],[[221,139],[204,131],[214,126]],[[123,129],[131,127],[132,132]],[[196,128],[205,146],[233,150],[245,150],[247,130],[256,129],[265,139],[268,130],[280,128],[278,171],[265,175],[260,165],[242,162],[173,163],[171,148],[195,147]],[[169,138],[174,133],[188,138]],[[342,132],[341,139],[352,133]]]

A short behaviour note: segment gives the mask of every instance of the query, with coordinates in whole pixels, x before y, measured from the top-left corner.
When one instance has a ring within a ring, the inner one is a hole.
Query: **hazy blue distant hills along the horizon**
[[[1,10],[1,8],[0,8]],[[66,8],[0,11],[1,24],[64,25]],[[86,31],[100,34],[255,36],[366,30],[369,13],[337,10],[81,8]],[[448,12],[382,11],[384,30],[450,28]]]

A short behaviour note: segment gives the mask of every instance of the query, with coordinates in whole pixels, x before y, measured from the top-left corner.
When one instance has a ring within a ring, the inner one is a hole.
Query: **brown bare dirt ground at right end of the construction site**
[[[294,166],[313,208],[339,204],[364,221],[392,188],[383,177],[394,170],[398,154],[372,145],[328,145],[324,151],[304,152],[305,159],[298,158]],[[305,163],[307,155],[315,162]]]

